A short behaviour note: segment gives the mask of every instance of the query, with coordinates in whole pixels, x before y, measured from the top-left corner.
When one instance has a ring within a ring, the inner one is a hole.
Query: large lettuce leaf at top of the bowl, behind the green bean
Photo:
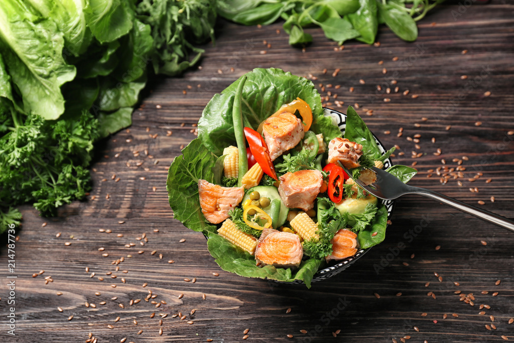
[[[245,126],[257,129],[280,106],[299,97],[313,111],[311,131],[322,132],[326,142],[341,136],[332,119],[323,116],[319,93],[311,81],[276,68],[255,68],[245,75],[247,80],[242,103]],[[221,94],[214,95],[198,121],[198,138],[216,155],[221,155],[223,149],[235,140],[232,106],[239,81],[225,88]]]

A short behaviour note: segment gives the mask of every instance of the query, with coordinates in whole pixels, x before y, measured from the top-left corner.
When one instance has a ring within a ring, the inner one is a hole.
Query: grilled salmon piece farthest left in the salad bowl
[[[245,195],[244,187],[222,187],[198,180],[201,212],[212,224],[228,218],[228,211],[239,205]]]

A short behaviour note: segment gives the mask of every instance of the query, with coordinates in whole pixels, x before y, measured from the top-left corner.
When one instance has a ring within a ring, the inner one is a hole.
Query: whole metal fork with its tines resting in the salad
[[[346,169],[341,164],[341,162],[339,162],[339,165],[343,168],[343,170],[348,175],[352,175],[352,173],[350,171],[348,171],[348,169]],[[512,222],[498,214],[494,214],[492,212],[482,210],[478,207],[474,207],[474,206],[465,204],[461,201],[455,200],[454,198],[443,195],[441,193],[431,191],[426,188],[413,187],[413,186],[406,185],[403,182],[401,182],[401,180],[399,180],[396,176],[388,173],[385,170],[378,169],[376,167],[372,167],[371,169],[375,173],[377,173],[376,182],[374,182],[371,185],[364,186],[364,184],[360,180],[354,180],[354,181],[357,185],[359,185],[366,192],[368,192],[380,199],[393,200],[404,194],[419,194],[419,195],[430,197],[433,200],[436,200],[445,205],[454,207],[463,212],[477,216],[478,218],[481,218],[481,219],[491,222],[493,224],[499,225],[508,230],[514,231],[514,222]]]

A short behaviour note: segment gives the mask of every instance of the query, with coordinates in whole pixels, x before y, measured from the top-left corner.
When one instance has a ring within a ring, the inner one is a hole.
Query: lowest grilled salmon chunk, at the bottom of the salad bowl
[[[264,229],[255,248],[255,260],[277,268],[297,268],[303,257],[303,247],[297,234]]]

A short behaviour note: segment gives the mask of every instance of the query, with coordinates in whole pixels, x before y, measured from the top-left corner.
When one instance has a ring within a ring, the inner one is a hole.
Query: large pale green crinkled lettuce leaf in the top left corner
[[[57,119],[64,112],[61,85],[76,69],[63,59],[63,33],[54,21],[41,19],[22,3],[0,6],[0,51],[25,112]]]

